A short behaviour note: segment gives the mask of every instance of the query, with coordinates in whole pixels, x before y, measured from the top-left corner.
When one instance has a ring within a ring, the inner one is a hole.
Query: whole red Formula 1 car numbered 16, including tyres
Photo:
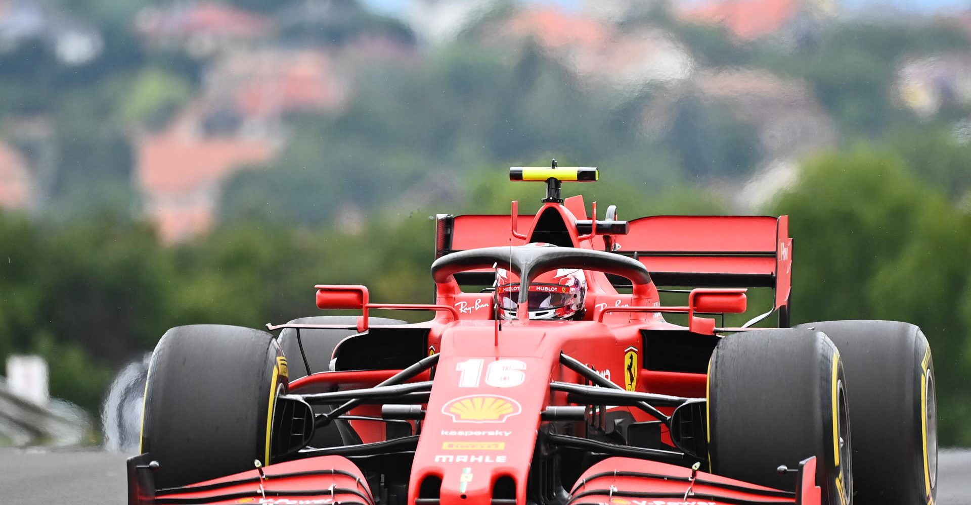
[[[596,177],[514,168],[547,183],[535,216],[439,215],[434,304],[320,285],[320,308],[362,315],[166,332],[129,504],[933,503],[920,329],[788,328],[786,216],[601,220],[560,198]],[[740,286],[770,310],[717,328]],[[664,306],[661,287],[696,288]]]

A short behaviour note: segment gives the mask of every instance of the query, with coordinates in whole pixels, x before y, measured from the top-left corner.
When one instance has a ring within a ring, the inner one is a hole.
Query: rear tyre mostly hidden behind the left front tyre
[[[351,325],[357,326],[357,316],[313,316],[294,319],[288,325]],[[404,321],[372,317],[368,319],[371,326],[403,325]],[[280,331],[280,347],[290,368],[290,380],[299,379],[312,373],[329,371],[330,357],[334,354],[337,344],[356,330],[314,330],[303,329],[297,331],[285,328]],[[301,352],[302,349],[302,352]],[[306,358],[306,361],[304,360]],[[309,366],[309,370],[308,370]]]

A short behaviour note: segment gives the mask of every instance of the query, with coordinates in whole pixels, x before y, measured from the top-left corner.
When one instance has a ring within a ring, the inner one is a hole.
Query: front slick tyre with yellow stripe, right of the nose
[[[723,338],[708,372],[709,455],[719,475],[795,489],[785,464],[817,458],[824,505],[853,500],[846,380],[820,331],[764,330]]]

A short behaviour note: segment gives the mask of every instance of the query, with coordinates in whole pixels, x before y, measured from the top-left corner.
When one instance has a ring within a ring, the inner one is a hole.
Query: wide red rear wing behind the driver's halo
[[[532,218],[519,215],[519,222]],[[437,225],[436,258],[478,247],[526,243],[511,234],[510,215],[440,214]],[[625,235],[606,237],[615,244],[615,252],[643,263],[660,287],[772,288],[780,326],[788,326],[792,273],[788,216],[650,216],[629,221]],[[590,245],[603,249],[607,240],[601,242],[601,238],[595,237]],[[468,278],[460,281],[475,283],[474,276],[467,272]],[[611,281],[618,287],[627,282],[619,277]]]

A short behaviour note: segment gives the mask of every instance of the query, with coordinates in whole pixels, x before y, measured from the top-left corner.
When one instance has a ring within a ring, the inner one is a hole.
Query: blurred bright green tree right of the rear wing
[[[962,417],[971,342],[971,216],[888,152],[820,156],[772,213],[795,239],[793,324],[890,319],[921,326],[938,375],[941,444],[971,444]]]

